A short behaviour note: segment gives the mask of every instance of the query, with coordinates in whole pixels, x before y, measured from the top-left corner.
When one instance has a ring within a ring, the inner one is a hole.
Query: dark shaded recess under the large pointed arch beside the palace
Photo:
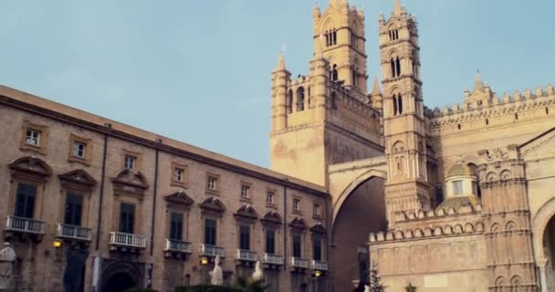
[[[351,281],[360,279],[361,272],[358,247],[366,246],[371,232],[387,228],[384,185],[385,180],[372,177],[350,193],[340,208],[332,229],[336,291],[352,290]]]

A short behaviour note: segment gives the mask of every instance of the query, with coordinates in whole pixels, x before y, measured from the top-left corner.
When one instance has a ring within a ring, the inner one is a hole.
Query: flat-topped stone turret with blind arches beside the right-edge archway
[[[480,151],[490,291],[538,291],[525,162],[518,145]]]

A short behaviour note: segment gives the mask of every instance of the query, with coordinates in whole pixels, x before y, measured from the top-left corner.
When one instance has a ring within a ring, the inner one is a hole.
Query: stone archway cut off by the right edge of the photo
[[[555,291],[555,198],[545,203],[534,216],[532,236],[541,291]]]

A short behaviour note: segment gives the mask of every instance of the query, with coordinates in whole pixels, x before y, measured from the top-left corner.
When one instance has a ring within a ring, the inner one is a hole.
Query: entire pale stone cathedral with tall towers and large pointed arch
[[[555,89],[497,94],[478,73],[429,109],[399,0],[379,19],[372,91],[361,9],[330,0],[313,19],[309,73],[291,78],[283,55],[272,73],[270,168],[330,193],[336,291],[369,265],[388,291],[555,291]]]

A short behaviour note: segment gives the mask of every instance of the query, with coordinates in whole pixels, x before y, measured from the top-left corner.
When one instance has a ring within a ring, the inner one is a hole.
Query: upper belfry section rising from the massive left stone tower
[[[347,0],[330,0],[326,12],[314,7],[314,51],[323,43],[323,55],[330,62],[332,82],[367,94],[366,48],[364,14],[350,6]],[[322,40],[319,40],[319,37]]]

